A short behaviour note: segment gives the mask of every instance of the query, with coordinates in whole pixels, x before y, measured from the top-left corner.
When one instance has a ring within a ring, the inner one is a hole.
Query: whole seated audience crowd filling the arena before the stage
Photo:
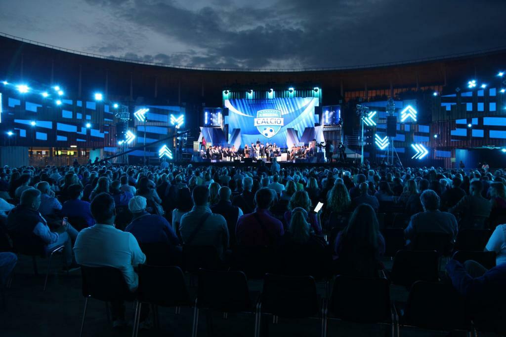
[[[506,171],[500,169],[170,164],[0,171],[3,284],[14,253],[63,246],[65,270],[115,267],[135,292],[136,268],[153,258],[152,244],[168,248],[167,265],[181,264],[189,246],[213,247],[227,266],[234,266],[237,249],[270,247],[274,272],[378,277],[389,244],[385,230],[393,227],[404,229],[403,249],[441,233],[450,250],[459,232],[490,229],[481,249],[496,254],[496,266],[450,260],[446,281],[473,303],[502,294],[506,284]],[[111,311],[113,324],[123,324],[123,304]]]

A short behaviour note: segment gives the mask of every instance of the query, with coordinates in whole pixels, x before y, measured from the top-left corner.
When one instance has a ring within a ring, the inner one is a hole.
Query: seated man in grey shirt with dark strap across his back
[[[222,259],[228,248],[227,221],[209,208],[209,189],[195,186],[192,191],[193,208],[181,217],[179,231],[184,245],[214,246]]]

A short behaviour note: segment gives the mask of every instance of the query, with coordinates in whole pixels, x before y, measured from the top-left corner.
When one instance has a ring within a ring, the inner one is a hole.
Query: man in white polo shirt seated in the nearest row
[[[116,211],[114,199],[109,194],[104,192],[95,196],[91,203],[91,212],[97,223],[81,230],[77,235],[74,245],[75,260],[87,267],[119,269],[130,291],[135,292],[139,285],[139,276],[134,267],[146,261],[137,239],[132,233],[114,228]],[[114,327],[125,324],[124,313],[123,301],[111,303]]]

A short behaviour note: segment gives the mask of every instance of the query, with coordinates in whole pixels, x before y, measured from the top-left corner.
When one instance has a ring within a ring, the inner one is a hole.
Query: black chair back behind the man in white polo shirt
[[[121,270],[113,267],[81,266],[82,296],[101,301],[134,299]]]

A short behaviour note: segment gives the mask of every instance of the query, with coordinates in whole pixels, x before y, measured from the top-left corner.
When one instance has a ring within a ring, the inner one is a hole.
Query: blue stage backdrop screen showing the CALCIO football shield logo
[[[313,97],[275,98],[267,100],[225,100],[229,109],[225,123],[229,132],[241,129],[241,148],[256,142],[276,143],[286,147],[286,129],[293,128],[302,136],[306,127],[314,127],[318,116],[314,108],[318,99]]]

